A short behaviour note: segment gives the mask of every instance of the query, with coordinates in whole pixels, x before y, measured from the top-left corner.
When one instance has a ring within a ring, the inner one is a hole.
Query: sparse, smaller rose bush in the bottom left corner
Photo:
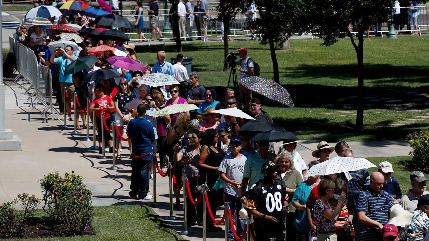
[[[20,204],[23,212],[18,213],[12,206]],[[40,199],[27,193],[18,194],[18,198],[11,202],[0,204],[0,228],[10,232],[13,237],[24,235],[24,227],[34,216],[34,208],[40,203]]]

